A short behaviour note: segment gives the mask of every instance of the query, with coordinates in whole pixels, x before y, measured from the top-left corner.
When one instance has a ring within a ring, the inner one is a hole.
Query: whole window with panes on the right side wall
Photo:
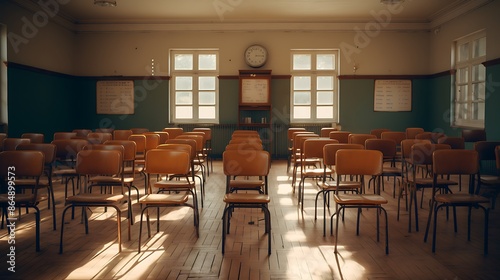
[[[453,124],[484,128],[486,33],[478,32],[454,43],[455,92]]]

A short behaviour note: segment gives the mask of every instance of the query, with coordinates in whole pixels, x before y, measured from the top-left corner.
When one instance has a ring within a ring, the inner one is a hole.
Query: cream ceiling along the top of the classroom
[[[33,11],[40,10],[39,0],[10,1]],[[259,24],[326,24],[325,28],[331,28],[377,20],[377,15],[383,14],[389,16],[383,20],[393,25],[433,28],[490,1],[405,0],[387,6],[380,0],[116,0],[116,7],[101,7],[94,5],[94,0],[69,0],[60,1],[68,3],[57,7],[56,17],[75,30],[127,24],[143,28],[209,24],[222,29],[221,26],[234,24],[256,24],[258,29]]]

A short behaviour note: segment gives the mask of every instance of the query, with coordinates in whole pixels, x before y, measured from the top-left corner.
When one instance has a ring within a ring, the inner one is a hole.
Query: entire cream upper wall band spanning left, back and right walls
[[[373,33],[353,30],[74,34],[58,24],[43,24],[43,18],[38,18],[42,24],[37,23],[34,12],[7,1],[0,2],[0,22],[22,40],[17,50],[15,44],[8,43],[9,61],[73,75],[149,75],[153,58],[157,63],[156,75],[168,75],[171,48],[218,48],[221,75],[236,75],[239,69],[249,69],[243,61],[243,51],[254,43],[268,48],[270,58],[263,68],[272,69],[274,74],[290,73],[290,49],[340,48],[341,74],[354,74],[355,62],[358,75],[415,75],[449,70],[452,41],[482,28],[487,30],[488,59],[499,58],[497,11],[500,1],[493,1],[443,24],[437,34],[384,31],[382,26],[378,26],[381,32]],[[35,12],[47,15],[41,8]],[[36,31],[26,33],[30,23]],[[368,25],[360,23],[357,27],[365,30]]]

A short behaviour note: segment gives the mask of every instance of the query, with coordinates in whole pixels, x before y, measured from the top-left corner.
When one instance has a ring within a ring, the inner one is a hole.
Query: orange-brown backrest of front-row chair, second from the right
[[[341,149],[336,153],[335,172],[339,175],[371,175],[382,173],[383,155],[380,151]]]

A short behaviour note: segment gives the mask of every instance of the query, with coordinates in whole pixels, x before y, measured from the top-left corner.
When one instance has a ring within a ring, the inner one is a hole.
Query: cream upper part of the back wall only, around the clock
[[[362,26],[361,26],[362,27]],[[156,75],[168,75],[168,50],[217,48],[220,74],[237,75],[245,65],[243,52],[251,44],[267,47],[263,67],[274,74],[290,74],[291,49],[340,48],[341,74],[426,74],[428,33],[387,32],[360,40],[355,32],[129,32],[84,33],[77,38],[78,75],[149,75],[151,59]],[[368,38],[368,39],[366,39]],[[358,46],[356,48],[356,45]]]

